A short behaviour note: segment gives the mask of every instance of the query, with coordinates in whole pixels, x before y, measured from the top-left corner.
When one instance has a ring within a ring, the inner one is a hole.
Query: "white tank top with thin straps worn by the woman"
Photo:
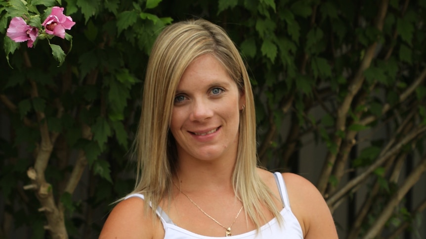
[[[280,191],[281,200],[284,204],[284,208],[280,212],[281,216],[283,217],[283,225],[280,226],[277,218],[273,218],[267,224],[261,226],[258,233],[256,233],[256,230],[254,230],[232,236],[233,239],[303,239],[303,233],[298,219],[293,214],[290,207],[284,179],[279,172],[275,172],[274,176]],[[143,195],[141,194],[130,194],[125,199],[131,197],[144,199]],[[225,239],[225,237],[202,236],[180,228],[170,220],[169,216],[161,209],[161,207],[157,207],[156,212],[163,224],[165,239]]]

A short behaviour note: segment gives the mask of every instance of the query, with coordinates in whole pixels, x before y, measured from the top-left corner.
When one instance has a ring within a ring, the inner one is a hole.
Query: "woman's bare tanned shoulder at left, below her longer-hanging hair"
[[[145,213],[145,209],[144,201],[140,198],[121,201],[108,215],[99,239],[154,239],[159,234],[164,237],[160,220],[155,218],[154,221],[153,215]]]

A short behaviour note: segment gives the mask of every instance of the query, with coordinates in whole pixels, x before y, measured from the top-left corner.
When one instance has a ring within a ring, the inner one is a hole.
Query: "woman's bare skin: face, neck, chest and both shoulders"
[[[173,178],[171,200],[160,206],[179,227],[196,234],[223,237],[225,230],[204,215],[186,196],[225,227],[232,224],[241,202],[235,197],[231,176],[236,161],[239,111],[244,98],[235,82],[211,55],[197,58],[185,70],[175,95],[170,130],[177,143],[178,177]],[[282,208],[274,176],[257,173],[275,194]],[[308,180],[283,173],[291,208],[305,239],[337,239],[332,215],[321,194]],[[117,204],[102,229],[100,239],[162,239],[158,217],[145,212],[139,198]],[[263,208],[267,223],[273,218]],[[232,234],[255,230],[244,210],[232,225]]]

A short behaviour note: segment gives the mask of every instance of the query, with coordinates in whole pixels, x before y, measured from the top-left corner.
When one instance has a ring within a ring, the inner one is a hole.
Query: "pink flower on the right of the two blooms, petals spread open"
[[[70,30],[75,24],[71,17],[64,15],[63,7],[54,6],[42,26],[45,28],[47,34],[56,35],[63,39],[65,37],[65,30]]]

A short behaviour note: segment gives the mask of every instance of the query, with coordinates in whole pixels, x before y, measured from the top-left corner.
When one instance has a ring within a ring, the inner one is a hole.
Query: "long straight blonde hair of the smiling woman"
[[[246,107],[240,111],[239,143],[232,180],[245,212],[258,229],[265,206],[281,220],[273,195],[256,172],[256,115],[253,92],[244,62],[225,31],[206,20],[188,20],[166,27],[156,39],[143,88],[142,114],[135,145],[138,174],[132,193],[141,193],[152,212],[171,195],[177,161],[169,125],[177,84],[188,65],[203,54],[214,56],[235,80]],[[146,207],[148,208],[148,207]]]

